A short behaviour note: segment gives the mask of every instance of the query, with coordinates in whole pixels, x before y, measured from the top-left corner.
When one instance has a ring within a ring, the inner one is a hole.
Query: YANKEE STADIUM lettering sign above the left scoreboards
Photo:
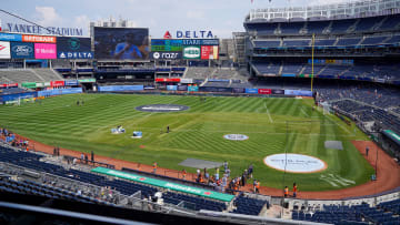
[[[39,25],[7,23],[7,27],[4,29],[8,29],[9,32],[14,32],[14,33],[83,35],[83,30],[81,28],[57,28],[57,27],[42,28]]]

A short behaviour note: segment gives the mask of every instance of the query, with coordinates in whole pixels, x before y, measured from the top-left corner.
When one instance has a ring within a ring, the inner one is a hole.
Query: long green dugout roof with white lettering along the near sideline
[[[207,197],[207,198],[219,200],[219,201],[223,201],[223,202],[230,202],[234,197],[234,195],[230,195],[230,194],[223,194],[223,193],[212,192],[212,191],[202,190],[202,188],[198,188],[198,187],[186,186],[182,184],[161,181],[161,180],[157,180],[157,178],[149,178],[146,176],[140,176],[140,175],[136,175],[132,173],[126,173],[122,171],[116,171],[116,170],[111,170],[111,168],[97,167],[97,168],[91,170],[91,172],[106,174],[109,176],[116,176],[116,177],[120,177],[120,178],[126,178],[129,181],[134,181],[134,182],[142,183],[142,184],[149,184],[149,185],[153,185],[153,186],[158,186],[158,187],[162,187],[162,188],[173,190],[177,192],[183,192],[187,194],[198,195],[198,196],[202,196],[202,197]]]

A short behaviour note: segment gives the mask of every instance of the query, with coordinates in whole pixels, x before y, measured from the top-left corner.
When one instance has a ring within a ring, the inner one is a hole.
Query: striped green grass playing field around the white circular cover
[[[78,99],[84,100],[84,105],[78,106]],[[136,111],[144,104],[183,104],[190,110]],[[312,105],[312,100],[304,99],[209,96],[201,102],[199,96],[80,94],[20,106],[2,105],[0,124],[46,144],[143,164],[157,161],[167,168],[182,170],[178,164],[193,157],[228,161],[232,175],[239,175],[253,163],[254,177],[261,185],[277,188],[282,188],[283,173],[266,166],[263,158],[283,153],[286,147],[290,153],[319,157],[328,168],[312,174],[287,173],[284,185],[296,181],[301,191],[323,191],[369,181],[373,168],[350,142],[367,136],[354,124],[349,126],[333,115],[313,111]],[[127,133],[111,134],[117,125]],[[167,125],[172,132],[161,133]],[[133,131],[142,131],[143,139],[132,140]],[[237,133],[249,140],[223,139],[224,134]],[[326,150],[324,141],[342,141],[344,151]]]

